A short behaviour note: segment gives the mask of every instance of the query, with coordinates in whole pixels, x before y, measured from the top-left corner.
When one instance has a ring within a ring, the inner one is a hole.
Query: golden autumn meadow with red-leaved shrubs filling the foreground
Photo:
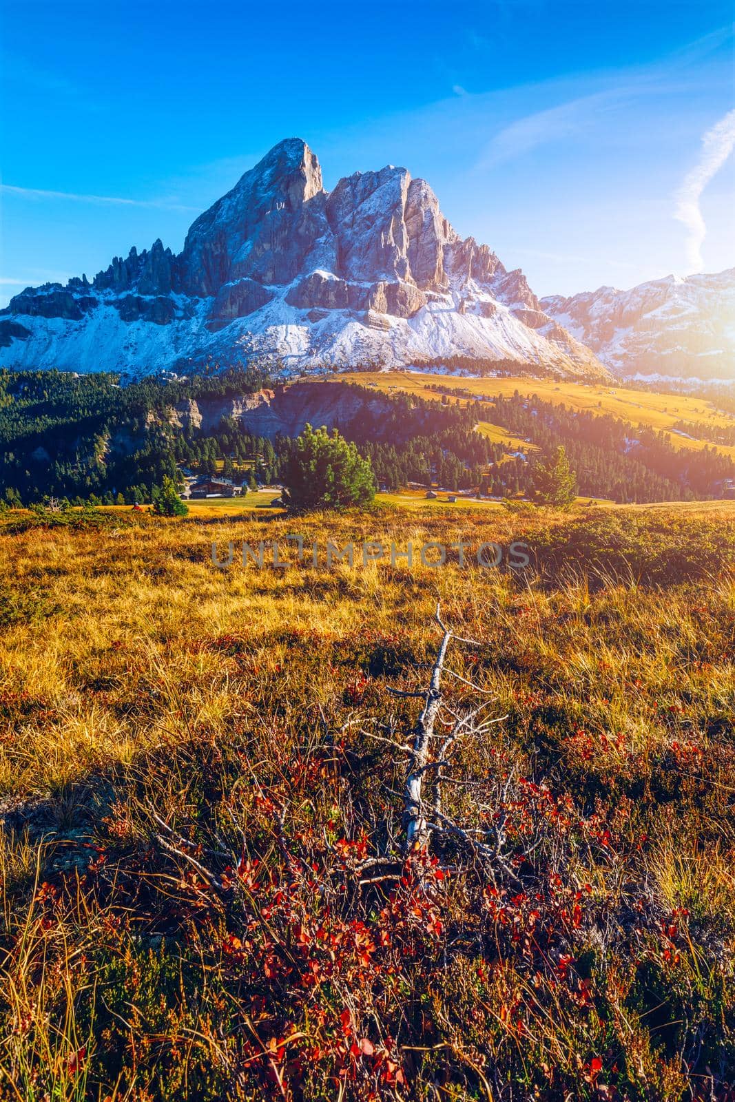
[[[728,1098],[733,511],[216,520],[2,522],[0,1098]],[[471,550],[212,563],[299,531]]]

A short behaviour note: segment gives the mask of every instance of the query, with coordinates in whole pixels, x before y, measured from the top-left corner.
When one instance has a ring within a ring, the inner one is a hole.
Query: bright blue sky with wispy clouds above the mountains
[[[156,237],[181,249],[285,137],[327,187],[424,176],[539,294],[733,267],[732,19],[720,0],[3,0],[0,303]]]

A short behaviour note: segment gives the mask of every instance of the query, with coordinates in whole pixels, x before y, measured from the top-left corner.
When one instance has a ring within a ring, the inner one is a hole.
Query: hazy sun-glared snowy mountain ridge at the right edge
[[[621,377],[735,382],[735,268],[553,295],[541,309]]]

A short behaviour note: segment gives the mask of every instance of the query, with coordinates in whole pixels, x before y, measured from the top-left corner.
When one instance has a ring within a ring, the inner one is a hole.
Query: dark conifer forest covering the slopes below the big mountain
[[[172,407],[186,399],[252,393],[268,382],[262,369],[239,366],[126,387],[105,372],[0,371],[0,499],[10,505],[48,496],[73,504],[148,503],[160,487],[180,484],[183,469],[245,489],[281,483],[294,450],[289,436],[258,435],[247,422],[227,417],[206,433],[170,420]],[[735,477],[735,464],[716,449],[677,450],[666,433],[536,395],[516,391],[480,401],[452,391],[441,401],[415,395],[383,395],[376,401],[370,388],[342,386],[364,401],[358,415],[335,426],[369,463],[376,485],[389,491],[413,483],[532,497],[536,468],[560,446],[579,493],[590,497],[621,503],[704,498],[721,495],[723,483]],[[536,447],[515,451],[489,440],[477,431],[483,419]]]

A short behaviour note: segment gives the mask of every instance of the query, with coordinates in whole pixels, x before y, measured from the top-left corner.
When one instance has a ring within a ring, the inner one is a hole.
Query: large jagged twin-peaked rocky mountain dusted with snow
[[[461,239],[423,180],[388,165],[332,192],[299,139],[275,145],[192,225],[89,282],[47,283],[0,314],[0,364],[129,374],[279,357],[284,370],[510,359],[605,375],[520,270]]]

